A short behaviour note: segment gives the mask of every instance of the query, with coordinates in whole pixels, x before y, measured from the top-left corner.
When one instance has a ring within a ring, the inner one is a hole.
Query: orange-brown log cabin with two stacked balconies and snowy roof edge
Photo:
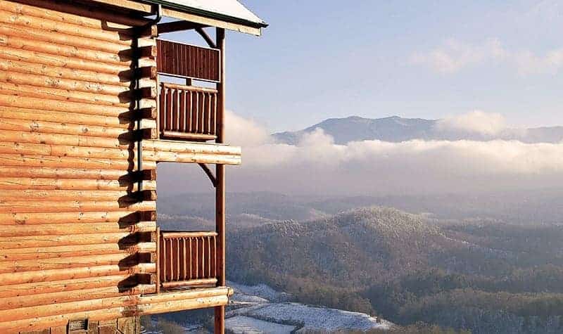
[[[236,0],[0,0],[0,21],[0,333],[202,308],[224,333],[225,31],[267,24]],[[201,166],[215,231],[160,231],[158,162]]]

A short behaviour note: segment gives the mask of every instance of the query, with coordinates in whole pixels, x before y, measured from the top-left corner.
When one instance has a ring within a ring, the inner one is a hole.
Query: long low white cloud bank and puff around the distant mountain
[[[229,142],[243,165],[227,168],[229,191],[316,195],[463,193],[563,186],[563,144],[520,141],[355,141],[336,145],[322,129],[296,145],[274,143],[259,124],[227,114]],[[443,127],[493,134],[500,115],[443,120]],[[165,169],[160,172],[160,169]],[[197,166],[159,167],[159,190],[210,191]]]

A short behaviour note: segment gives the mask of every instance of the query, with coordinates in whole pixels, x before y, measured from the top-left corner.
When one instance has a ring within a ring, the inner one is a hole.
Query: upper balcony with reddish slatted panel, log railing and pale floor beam
[[[158,161],[241,163],[241,148],[224,143],[222,136],[220,60],[216,48],[156,40],[156,134],[143,146]]]

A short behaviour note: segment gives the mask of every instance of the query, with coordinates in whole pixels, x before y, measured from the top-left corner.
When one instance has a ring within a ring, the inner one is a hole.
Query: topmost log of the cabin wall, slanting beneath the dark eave
[[[96,6],[76,6],[59,1],[18,0],[4,1],[2,7],[5,11],[23,13],[53,21],[68,22],[75,25],[84,25],[94,29],[107,29],[112,27],[132,27],[146,25],[150,20],[135,15],[122,15],[112,11],[103,10]],[[25,5],[24,5],[25,4]],[[39,11],[37,8],[41,8]]]

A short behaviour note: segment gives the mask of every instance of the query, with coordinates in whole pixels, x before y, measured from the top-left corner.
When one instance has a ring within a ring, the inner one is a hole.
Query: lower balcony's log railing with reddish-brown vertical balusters
[[[160,287],[217,284],[217,233],[160,232]]]

